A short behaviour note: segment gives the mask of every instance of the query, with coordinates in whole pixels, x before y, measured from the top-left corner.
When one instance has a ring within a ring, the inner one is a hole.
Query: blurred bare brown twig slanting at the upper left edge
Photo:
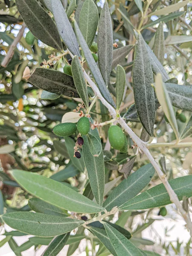
[[[23,32],[26,28],[26,25],[25,23],[23,22],[23,25],[19,31],[19,33],[17,34],[16,38],[14,39],[14,41],[12,42],[10,48],[9,48],[9,51],[7,53],[7,55],[5,56],[5,58],[3,59],[2,63],[1,63],[1,66],[2,67],[7,67],[7,65],[9,64],[9,62],[11,61],[13,55],[14,55],[14,50],[17,46],[17,44],[19,43],[20,39],[22,38],[23,36]]]

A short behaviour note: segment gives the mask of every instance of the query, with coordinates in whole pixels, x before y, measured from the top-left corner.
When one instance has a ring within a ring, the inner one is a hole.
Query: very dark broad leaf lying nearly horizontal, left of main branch
[[[59,71],[36,68],[28,81],[36,87],[47,90],[50,93],[79,98],[73,78]]]

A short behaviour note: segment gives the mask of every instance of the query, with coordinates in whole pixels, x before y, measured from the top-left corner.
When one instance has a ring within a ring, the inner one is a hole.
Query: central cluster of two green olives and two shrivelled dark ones
[[[77,124],[66,122],[66,123],[56,125],[53,128],[53,133],[55,135],[59,136],[59,137],[67,137],[67,136],[70,136],[70,135],[76,133],[77,130],[79,131],[79,133],[81,135],[86,135],[89,132],[90,122],[89,122],[89,119],[86,116],[81,117],[79,119],[79,121],[77,122]],[[77,143],[80,146],[83,145],[84,144],[83,138],[78,137],[77,138]],[[75,156],[77,158],[81,158],[80,152],[76,151]]]

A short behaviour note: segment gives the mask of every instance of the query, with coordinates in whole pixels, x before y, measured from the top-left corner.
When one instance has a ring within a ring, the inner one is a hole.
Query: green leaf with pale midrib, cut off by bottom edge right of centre
[[[114,227],[111,227],[108,223],[104,223],[104,227],[118,256],[143,256],[143,253]]]

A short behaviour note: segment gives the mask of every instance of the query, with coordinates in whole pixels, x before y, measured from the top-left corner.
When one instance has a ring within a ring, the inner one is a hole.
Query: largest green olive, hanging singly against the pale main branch
[[[111,146],[115,149],[122,149],[125,145],[125,134],[117,125],[112,125],[108,130],[108,137]]]

